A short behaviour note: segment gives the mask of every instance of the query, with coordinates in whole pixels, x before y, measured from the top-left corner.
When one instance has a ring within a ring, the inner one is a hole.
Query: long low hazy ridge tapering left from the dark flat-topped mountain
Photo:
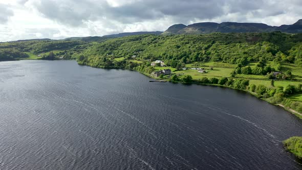
[[[103,41],[110,38],[118,38],[118,37],[130,36],[130,35],[142,35],[142,34],[160,35],[162,33],[163,33],[162,31],[123,32],[119,34],[111,34],[111,35],[104,35],[104,36],[70,37],[70,38],[65,38],[63,40],[82,40],[86,42],[92,42],[92,41]]]

